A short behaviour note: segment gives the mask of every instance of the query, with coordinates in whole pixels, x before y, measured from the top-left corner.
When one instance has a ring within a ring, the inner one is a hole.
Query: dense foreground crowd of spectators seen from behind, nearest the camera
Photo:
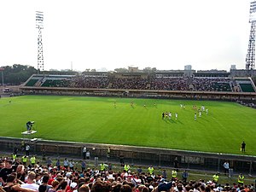
[[[188,181],[188,172],[184,171],[182,178],[177,177],[177,170],[167,178],[166,171],[154,174],[154,167],[149,166],[146,172],[142,167],[137,172],[131,172],[131,167],[123,165],[122,171],[113,170],[111,164],[101,163],[90,169],[81,160],[81,167],[75,167],[73,160],[55,164],[50,158],[45,165],[20,162],[12,159],[0,160],[1,192],[255,192],[253,184],[218,183],[218,173],[213,175],[212,181]],[[65,161],[64,160],[64,161]],[[80,169],[81,168],[81,169]],[[241,177],[239,178],[241,179]]]

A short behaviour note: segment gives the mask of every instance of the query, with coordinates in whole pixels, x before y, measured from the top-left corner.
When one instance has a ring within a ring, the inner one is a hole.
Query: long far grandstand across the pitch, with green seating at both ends
[[[86,73],[80,75],[34,74],[26,87],[67,87],[124,90],[194,90],[256,92],[251,78],[188,77],[147,73]]]

